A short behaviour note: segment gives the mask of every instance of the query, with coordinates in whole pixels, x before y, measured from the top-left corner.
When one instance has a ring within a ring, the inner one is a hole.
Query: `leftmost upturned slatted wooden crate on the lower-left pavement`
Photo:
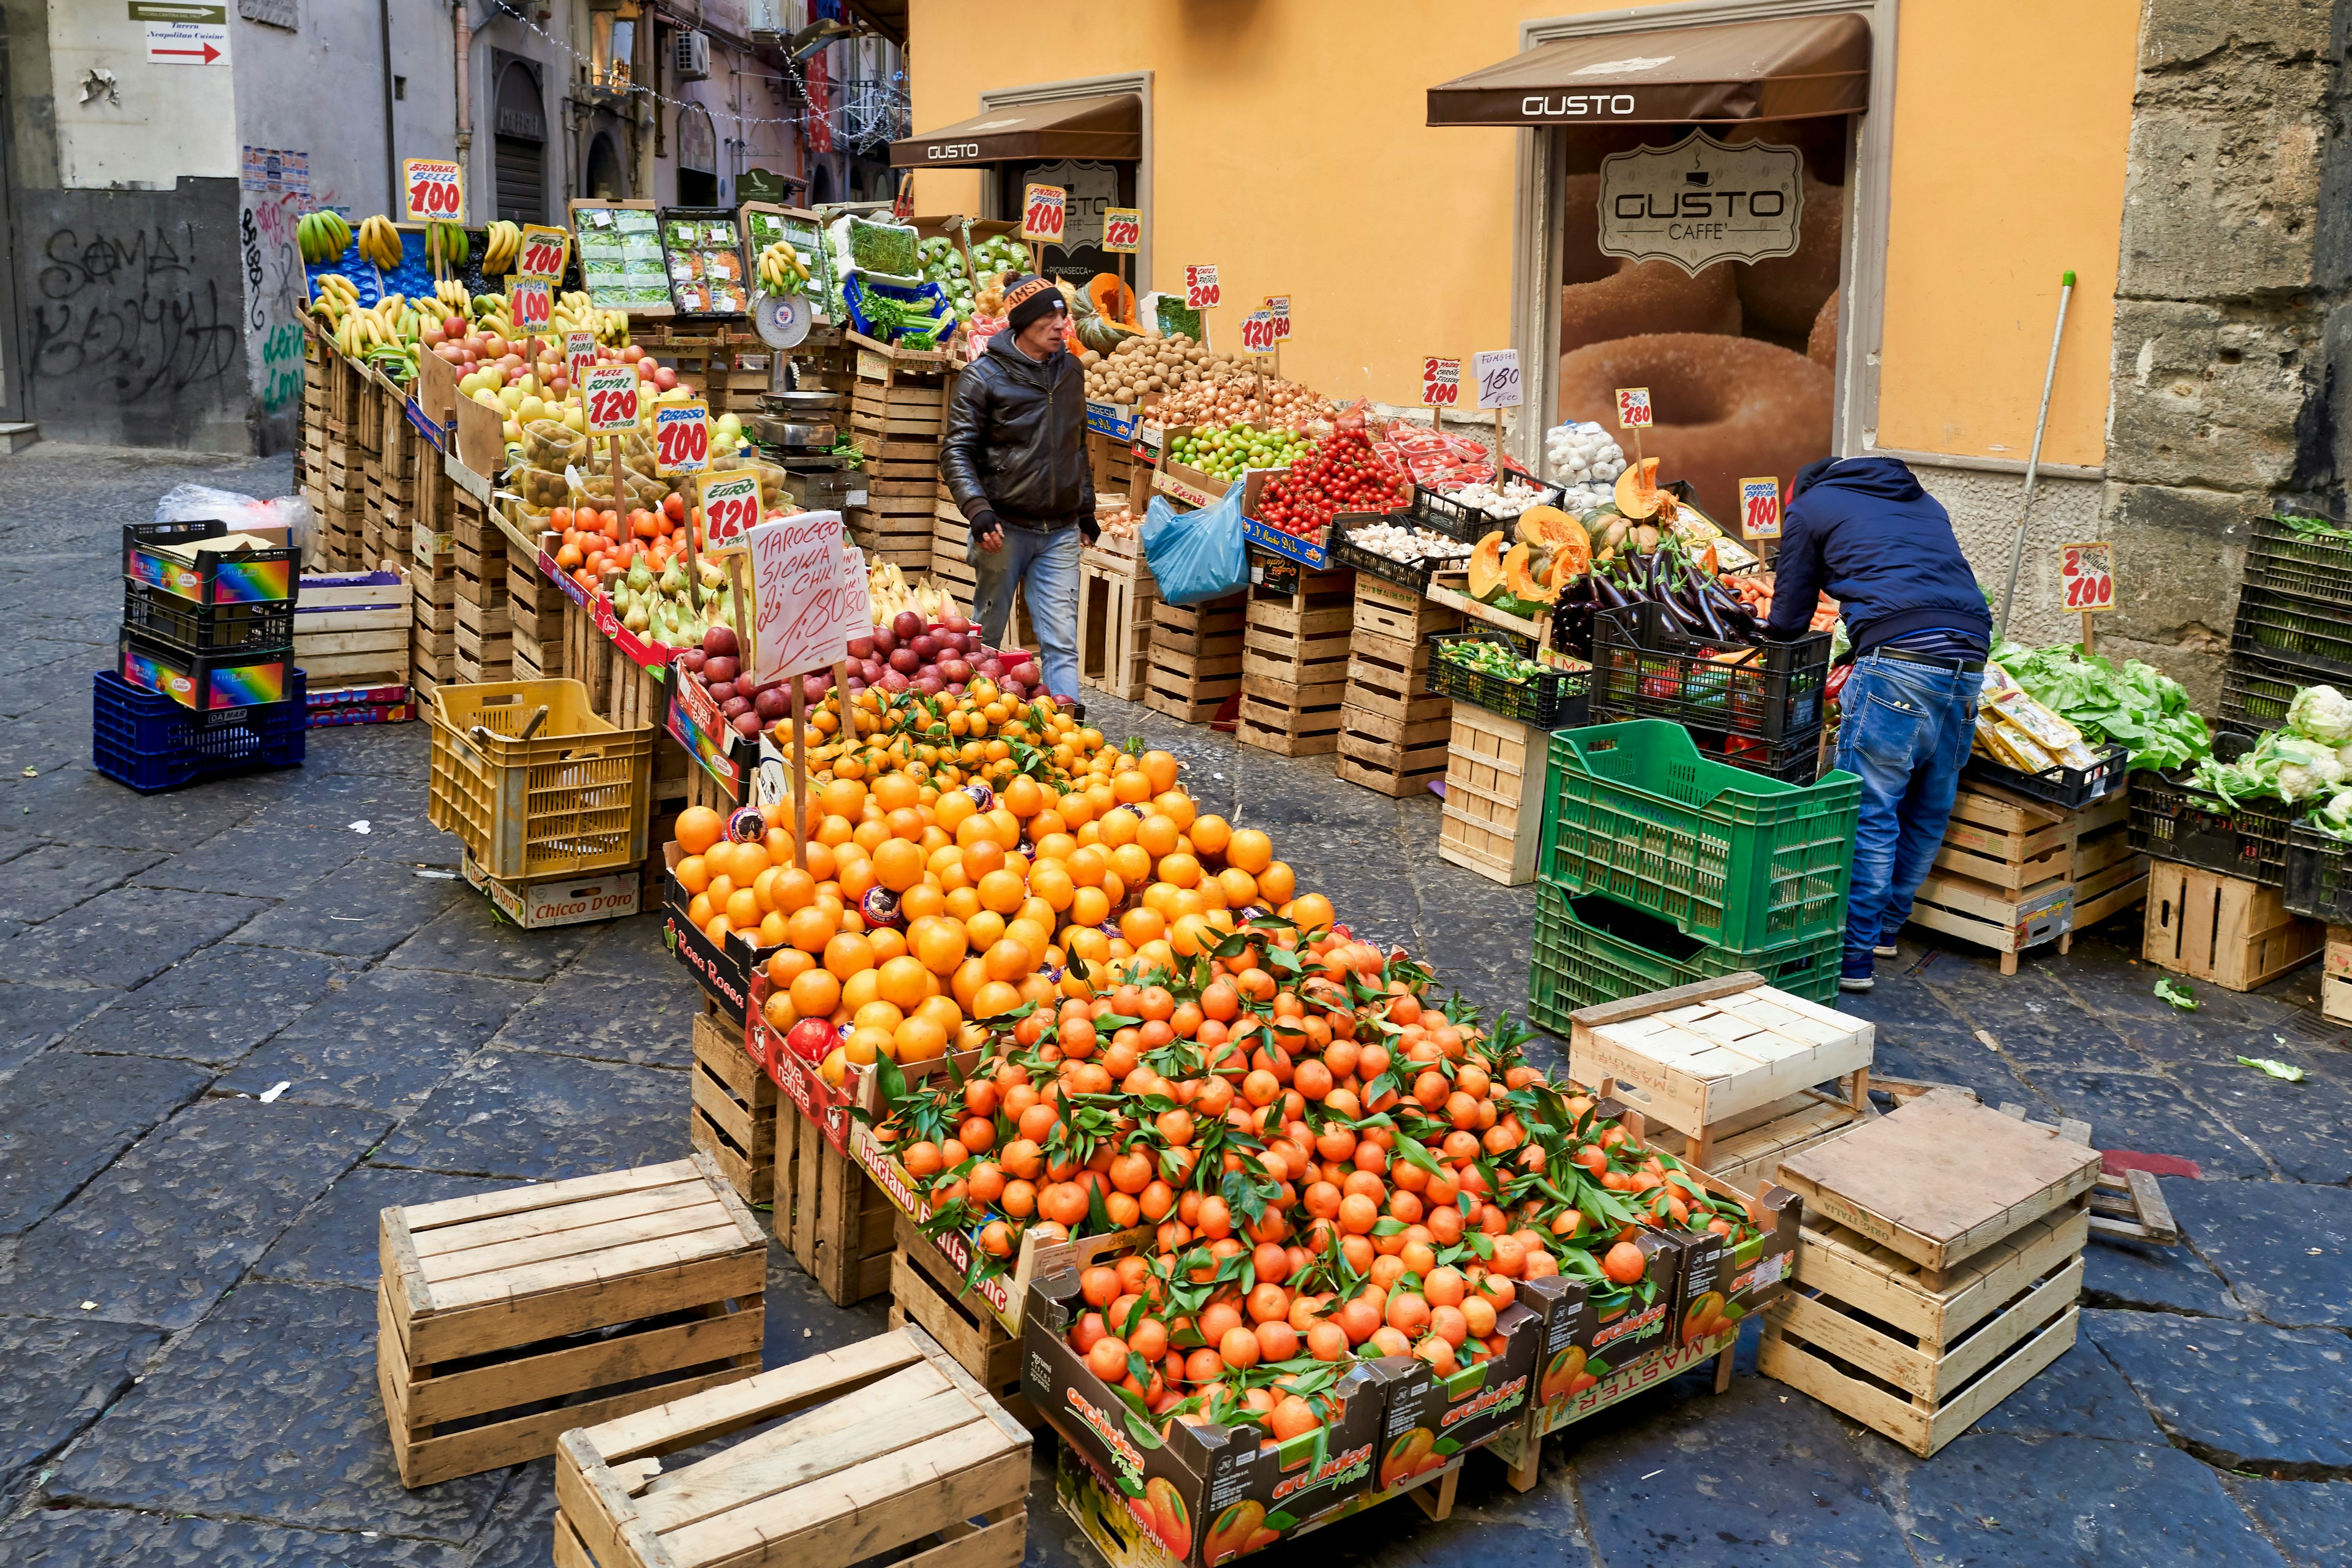
[[[376,1387],[407,1486],[760,1371],[767,1239],[706,1154],[386,1208],[379,1253]]]

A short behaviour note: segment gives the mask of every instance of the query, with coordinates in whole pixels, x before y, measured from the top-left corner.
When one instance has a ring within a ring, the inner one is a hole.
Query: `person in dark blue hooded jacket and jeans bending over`
[[[1863,811],[1837,985],[1865,992],[1943,844],[1976,743],[1992,616],[1952,517],[1893,458],[1806,463],[1776,567],[1764,635],[1802,637],[1828,592],[1853,644],[1837,766],[1863,780]]]

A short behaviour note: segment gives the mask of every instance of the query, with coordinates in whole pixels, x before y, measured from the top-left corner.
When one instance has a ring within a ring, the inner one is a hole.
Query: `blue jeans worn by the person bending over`
[[[1900,931],[1936,863],[1976,743],[1983,675],[1865,654],[1839,698],[1837,766],[1863,780],[1846,893],[1844,973],[1867,976],[1879,931]]]

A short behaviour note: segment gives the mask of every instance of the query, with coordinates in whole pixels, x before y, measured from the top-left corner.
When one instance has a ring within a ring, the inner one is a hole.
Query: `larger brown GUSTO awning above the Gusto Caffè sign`
[[[1858,115],[1870,24],[1792,16],[1538,45],[1430,87],[1430,125],[1719,125]]]

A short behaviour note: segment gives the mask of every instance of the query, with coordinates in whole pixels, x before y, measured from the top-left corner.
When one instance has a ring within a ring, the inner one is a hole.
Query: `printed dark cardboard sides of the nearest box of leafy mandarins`
[[[1289,1441],[1263,1439],[1258,1427],[1183,1422],[1169,1422],[1164,1439],[1145,1427],[1150,1441],[1138,1441],[1127,1401],[1070,1345],[1070,1324],[1082,1309],[1075,1267],[1030,1284],[1021,1314],[1021,1392],[1096,1474],[1117,1486],[1127,1512],[1183,1568],[1268,1547],[1371,1490],[1388,1408],[1388,1378],[1371,1361],[1331,1371],[1336,1415]]]

